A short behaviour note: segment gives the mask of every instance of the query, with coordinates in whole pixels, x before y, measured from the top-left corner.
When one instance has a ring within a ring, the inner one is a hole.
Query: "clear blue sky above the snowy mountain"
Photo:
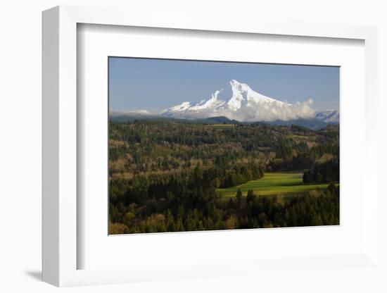
[[[233,79],[279,101],[311,98],[316,111],[338,109],[338,67],[110,57],[110,111],[160,111],[209,99]]]

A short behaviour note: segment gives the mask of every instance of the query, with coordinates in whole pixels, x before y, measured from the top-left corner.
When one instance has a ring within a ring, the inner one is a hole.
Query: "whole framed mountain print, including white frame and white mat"
[[[362,25],[44,11],[44,281],[379,270],[375,50]]]

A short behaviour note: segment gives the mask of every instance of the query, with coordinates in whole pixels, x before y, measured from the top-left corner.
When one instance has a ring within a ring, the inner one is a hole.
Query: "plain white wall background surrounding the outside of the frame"
[[[56,287],[40,282],[41,272],[41,11],[52,6],[82,5],[149,9],[169,13],[194,13],[216,21],[226,15],[230,22],[238,18],[273,18],[334,23],[360,23],[379,27],[379,151],[386,152],[387,106],[387,8],[376,0],[191,0],[191,1],[119,1],[119,0],[5,0],[0,6],[0,291],[53,292]],[[379,187],[383,187],[387,163],[380,154]],[[386,199],[379,201],[379,249],[387,263]],[[387,275],[386,271],[384,272]],[[302,276],[300,278],[300,276]],[[379,280],[379,282],[378,282]],[[387,292],[382,275],[348,270],[332,273],[304,272],[277,275],[262,280],[241,276],[227,279],[151,282],[113,287],[81,287],[69,292]]]

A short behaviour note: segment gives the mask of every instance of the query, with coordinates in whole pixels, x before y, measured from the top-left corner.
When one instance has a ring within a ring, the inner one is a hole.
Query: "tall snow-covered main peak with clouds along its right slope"
[[[209,99],[198,103],[184,101],[167,108],[161,116],[172,118],[210,118],[224,116],[241,122],[274,121],[315,118],[310,107],[312,99],[288,104],[255,92],[245,83],[231,80],[227,87],[217,90]]]

